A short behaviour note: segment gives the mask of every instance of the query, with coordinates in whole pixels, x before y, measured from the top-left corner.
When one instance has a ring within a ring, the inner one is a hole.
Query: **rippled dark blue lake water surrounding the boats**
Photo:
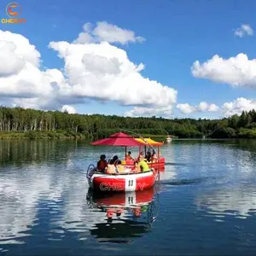
[[[20,140],[0,149],[1,255],[256,253],[256,141],[165,144],[154,189],[109,200],[89,191],[85,173],[122,148]],[[108,207],[127,200],[135,205]]]

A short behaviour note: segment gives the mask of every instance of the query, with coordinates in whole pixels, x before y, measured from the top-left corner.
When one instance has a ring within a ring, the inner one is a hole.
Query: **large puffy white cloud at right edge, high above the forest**
[[[212,59],[202,64],[195,61],[191,72],[195,78],[209,79],[234,87],[247,86],[256,89],[256,60],[249,60],[245,54],[229,59],[214,55]]]

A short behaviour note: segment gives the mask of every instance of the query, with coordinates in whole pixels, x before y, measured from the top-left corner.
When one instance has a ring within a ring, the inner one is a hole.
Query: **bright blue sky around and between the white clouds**
[[[0,4],[0,17],[5,18],[5,6]],[[143,63],[143,77],[157,80],[177,90],[174,115],[177,117],[219,117],[218,112],[194,112],[183,114],[177,104],[196,106],[200,102],[214,103],[219,108],[225,102],[239,97],[254,100],[256,94],[247,84],[234,87],[229,83],[216,83],[211,79],[195,78],[190,68],[195,61],[205,62],[219,55],[224,59],[243,53],[251,60],[256,58],[255,35],[236,37],[235,30],[241,24],[252,29],[255,24],[255,1],[19,1],[26,24],[1,24],[3,31],[15,32],[28,38],[41,54],[46,68],[63,68],[49,42],[73,42],[82,26],[90,22],[106,21],[120,28],[131,30],[145,38],[139,44],[113,44],[124,49],[133,63]],[[132,109],[119,107],[109,101],[104,104],[73,105],[79,113],[124,114]]]

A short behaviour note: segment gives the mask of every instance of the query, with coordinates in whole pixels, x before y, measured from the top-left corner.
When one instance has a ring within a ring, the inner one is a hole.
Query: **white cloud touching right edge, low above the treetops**
[[[229,117],[233,114],[240,115],[242,111],[256,110],[256,100],[248,100],[246,98],[237,98],[233,102],[225,102],[222,106],[224,117]]]

